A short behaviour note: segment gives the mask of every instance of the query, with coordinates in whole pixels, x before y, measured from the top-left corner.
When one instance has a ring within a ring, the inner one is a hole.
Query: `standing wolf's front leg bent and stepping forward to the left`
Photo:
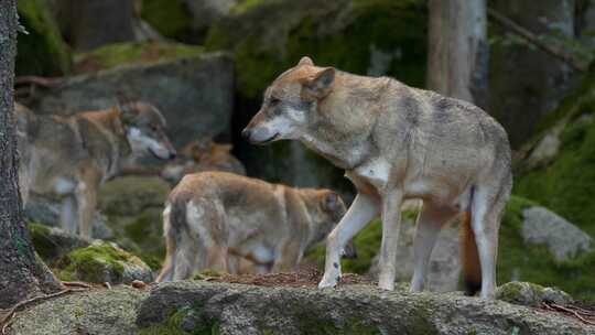
[[[361,228],[378,215],[378,199],[371,195],[358,193],[349,210],[328,235],[324,275],[318,288],[333,288],[340,279],[340,251]]]

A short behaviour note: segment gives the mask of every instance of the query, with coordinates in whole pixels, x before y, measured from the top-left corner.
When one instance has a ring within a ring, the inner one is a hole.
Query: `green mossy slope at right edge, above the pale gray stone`
[[[543,137],[564,125],[561,149],[548,165],[516,177],[515,192],[536,199],[595,237],[595,68],[583,85],[538,126]]]

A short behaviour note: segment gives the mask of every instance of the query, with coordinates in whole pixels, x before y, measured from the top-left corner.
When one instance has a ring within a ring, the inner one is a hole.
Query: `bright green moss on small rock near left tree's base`
[[[113,282],[122,279],[125,263],[142,264],[136,256],[102,242],[69,252],[63,260],[60,275],[76,278],[88,282],[101,282],[110,273]]]

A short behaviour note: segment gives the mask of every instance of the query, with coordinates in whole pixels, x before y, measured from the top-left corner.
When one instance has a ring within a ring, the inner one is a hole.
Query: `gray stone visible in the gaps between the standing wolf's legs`
[[[413,277],[413,238],[415,225],[412,220],[402,224],[397,251],[397,281],[409,282]],[[458,260],[458,229],[442,229],[430,258],[426,289],[434,292],[455,291],[458,287],[461,262]],[[369,274],[378,278],[378,256],[372,260]]]

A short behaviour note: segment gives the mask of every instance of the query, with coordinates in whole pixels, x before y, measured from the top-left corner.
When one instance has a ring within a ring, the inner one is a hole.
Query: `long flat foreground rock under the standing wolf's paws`
[[[595,334],[560,314],[458,294],[208,282],[153,288],[137,325],[140,334]]]

